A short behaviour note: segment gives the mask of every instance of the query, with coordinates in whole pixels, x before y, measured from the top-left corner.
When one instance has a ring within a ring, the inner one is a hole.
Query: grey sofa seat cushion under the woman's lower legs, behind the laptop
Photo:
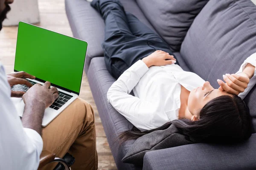
[[[140,21],[154,30],[134,0],[120,0],[120,2],[126,11],[134,14]],[[90,60],[93,57],[103,56],[101,44],[105,35],[104,20],[86,0],[65,0],[65,6],[73,36],[88,42],[84,68],[87,73]]]

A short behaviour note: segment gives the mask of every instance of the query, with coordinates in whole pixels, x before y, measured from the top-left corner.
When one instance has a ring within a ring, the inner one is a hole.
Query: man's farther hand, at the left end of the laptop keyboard
[[[32,87],[32,84],[28,80],[26,80],[26,78],[35,79],[35,76],[32,76],[24,71],[13,72],[13,73],[7,74],[6,77],[11,87],[13,85],[19,85],[19,84]],[[23,91],[12,91],[11,97],[22,97],[23,94],[25,94],[25,92]]]

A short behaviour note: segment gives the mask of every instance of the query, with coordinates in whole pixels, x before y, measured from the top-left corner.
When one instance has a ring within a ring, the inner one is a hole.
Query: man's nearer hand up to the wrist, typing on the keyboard
[[[58,90],[55,87],[50,88],[50,86],[50,82],[45,82],[44,85],[35,84],[29,88],[22,97],[25,105],[43,105],[44,108],[52,105],[58,98]]]

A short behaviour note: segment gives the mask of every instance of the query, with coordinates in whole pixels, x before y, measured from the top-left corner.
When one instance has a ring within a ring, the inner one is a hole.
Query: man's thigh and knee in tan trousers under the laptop
[[[91,106],[83,99],[76,99],[43,128],[43,150],[53,152],[62,158],[81,133],[84,122],[93,123],[93,119]]]

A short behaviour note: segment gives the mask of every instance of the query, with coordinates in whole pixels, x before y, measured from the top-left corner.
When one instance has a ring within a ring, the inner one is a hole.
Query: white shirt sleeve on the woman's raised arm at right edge
[[[244,68],[248,63],[256,67],[256,53],[250,55],[250,57],[244,60],[243,64],[241,65],[239,71],[236,72],[236,74],[239,74],[242,71],[244,71]],[[238,96],[244,99],[244,97],[250,92],[250,90],[253,88],[255,84],[256,84],[256,69],[254,70],[253,77],[250,79],[250,82],[248,83],[247,88],[244,90],[244,92],[240,93]]]

